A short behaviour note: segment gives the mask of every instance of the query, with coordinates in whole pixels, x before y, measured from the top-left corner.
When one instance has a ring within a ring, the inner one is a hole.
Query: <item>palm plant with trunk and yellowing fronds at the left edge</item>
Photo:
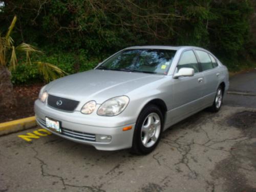
[[[5,36],[0,33],[0,107],[5,106],[10,108],[15,106],[17,101],[13,93],[13,85],[11,82],[11,72],[16,69],[18,64],[16,52],[23,52],[26,54],[25,63],[28,65],[35,64],[38,66],[39,73],[44,76],[46,81],[56,79],[65,75],[65,72],[58,67],[48,62],[31,61],[31,53],[41,53],[34,46],[22,44],[15,47],[14,41],[10,36],[15,26],[17,17],[14,16],[12,23]]]

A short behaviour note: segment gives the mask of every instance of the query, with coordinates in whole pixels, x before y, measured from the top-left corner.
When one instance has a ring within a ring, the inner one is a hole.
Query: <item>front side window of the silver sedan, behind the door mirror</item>
[[[180,70],[180,68],[192,68],[194,69],[195,73],[199,72],[197,58],[192,50],[182,53],[179,64],[177,66],[178,71]]]

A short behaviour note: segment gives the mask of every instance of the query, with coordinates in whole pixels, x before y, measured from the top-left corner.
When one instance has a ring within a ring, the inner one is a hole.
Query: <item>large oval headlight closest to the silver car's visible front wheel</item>
[[[118,115],[126,108],[128,103],[129,97],[127,96],[111,98],[100,105],[97,114],[101,116]]]

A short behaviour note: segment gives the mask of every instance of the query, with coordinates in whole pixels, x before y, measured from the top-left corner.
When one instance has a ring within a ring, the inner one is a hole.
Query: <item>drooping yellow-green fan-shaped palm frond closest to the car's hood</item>
[[[57,79],[59,77],[63,77],[64,75],[67,75],[67,73],[61,69],[59,69],[57,66],[52,65],[49,62],[33,62],[38,65],[38,71],[39,73],[44,76],[44,79],[49,82],[50,80]]]

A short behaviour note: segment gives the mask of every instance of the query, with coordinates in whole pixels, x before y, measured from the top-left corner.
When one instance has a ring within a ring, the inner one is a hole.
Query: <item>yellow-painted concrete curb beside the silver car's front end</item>
[[[27,130],[36,126],[35,116],[0,123],[0,136]]]

